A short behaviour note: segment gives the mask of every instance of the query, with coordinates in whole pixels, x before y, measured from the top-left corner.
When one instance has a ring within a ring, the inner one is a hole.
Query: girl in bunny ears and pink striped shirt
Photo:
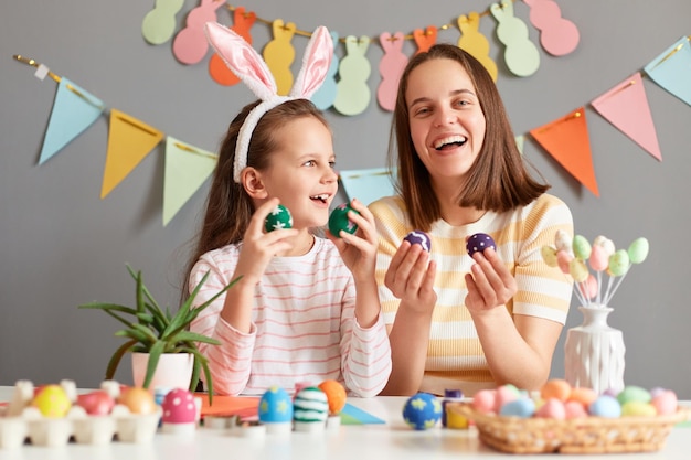
[[[328,222],[338,189],[331,131],[308,100],[329,66],[330,36],[320,28],[307,47],[296,83],[307,89],[279,97],[242,38],[219,24],[206,28],[211,44],[261,97],[235,117],[222,143],[189,276],[192,289],[210,272],[199,303],[242,277],[192,323],[192,331],[222,342],[200,346],[214,389],[263,394],[274,385],[293,391],[337,379],[352,394],[374,396],[391,372],[391,350],[374,278],[372,214],[353,200],[354,235],[325,239],[311,232]],[[293,228],[267,233],[265,220],[279,203]]]

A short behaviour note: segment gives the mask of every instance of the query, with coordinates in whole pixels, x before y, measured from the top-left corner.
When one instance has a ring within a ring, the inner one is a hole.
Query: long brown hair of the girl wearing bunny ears
[[[249,225],[255,206],[243,185],[233,180],[233,164],[240,128],[259,103],[256,100],[243,107],[231,121],[221,143],[199,242],[185,270],[188,276],[204,253],[241,242]],[[276,132],[286,124],[302,117],[315,117],[326,127],[329,126],[322,113],[308,99],[283,103],[267,111],[257,122],[247,150],[247,167],[266,170],[270,165],[272,153],[280,148],[281,140]],[[183,286],[183,292],[187,292],[187,285]]]

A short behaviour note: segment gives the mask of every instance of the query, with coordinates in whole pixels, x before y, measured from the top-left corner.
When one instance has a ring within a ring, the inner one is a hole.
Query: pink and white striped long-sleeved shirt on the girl
[[[228,245],[198,260],[190,290],[210,275],[196,306],[231,282],[241,247]],[[222,343],[200,344],[219,394],[258,395],[274,385],[290,392],[296,384],[336,379],[350,394],[371,397],[389,379],[391,347],[383,317],[369,329],[358,324],[352,275],[328,239],[316,238],[304,256],[272,259],[255,288],[249,333],[220,318],[224,301],[225,296],[219,297],[191,324],[192,331]]]

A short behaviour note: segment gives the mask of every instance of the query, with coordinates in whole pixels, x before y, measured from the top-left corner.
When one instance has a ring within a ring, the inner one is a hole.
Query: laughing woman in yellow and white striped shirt
[[[490,75],[458,46],[410,61],[394,139],[401,195],[370,205],[393,360],[384,394],[539,388],[572,292],[540,249],[559,229],[573,235],[568,207],[531,179]],[[403,242],[412,229],[429,234],[430,253]],[[497,250],[470,258],[475,233],[491,235]]]

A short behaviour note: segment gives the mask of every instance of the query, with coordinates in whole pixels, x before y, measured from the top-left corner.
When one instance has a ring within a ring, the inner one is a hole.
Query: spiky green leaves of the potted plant
[[[142,386],[148,388],[161,355],[166,353],[189,353],[194,359],[189,388],[191,391],[196,388],[201,372],[204,372],[209,402],[211,403],[213,397],[213,382],[209,370],[209,362],[200,352],[198,343],[217,345],[220,342],[210,336],[190,331],[190,323],[217,297],[235,285],[240,277],[231,281],[231,284],[201,306],[192,308],[194,298],[209,277],[209,274],[205,274],[199,285],[194,287],[185,302],[173,313],[168,307],[164,310],[161,309],[153,296],[151,296],[151,292],[149,292],[145,286],[141,271],[135,272],[129,265],[127,265],[127,270],[137,284],[136,307],[132,308],[105,302],[91,302],[78,306],[81,309],[102,310],[126,327],[115,333],[115,335],[128,340],[119,346],[110,357],[106,368],[106,379],[114,377],[126,353],[147,353],[148,361]]]

